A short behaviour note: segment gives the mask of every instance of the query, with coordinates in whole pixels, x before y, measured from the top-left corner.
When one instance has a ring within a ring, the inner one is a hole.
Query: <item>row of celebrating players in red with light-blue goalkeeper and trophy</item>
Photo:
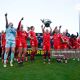
[[[28,43],[27,39],[30,39],[31,46],[31,54],[30,61],[34,62],[35,56],[38,50],[38,44],[40,40],[38,40],[35,32],[35,27],[30,26],[28,30],[23,30],[24,26],[21,23],[24,18],[22,17],[18,23],[17,28],[14,27],[12,22],[8,23],[8,14],[5,14],[6,21],[6,30],[1,33],[1,58],[3,67],[7,67],[7,64],[10,60],[10,66],[13,66],[14,59],[18,64],[22,64],[23,62],[27,62],[28,59]],[[56,60],[64,61],[67,63],[67,60],[70,58],[70,55],[75,56],[75,58],[79,58],[78,54],[68,54],[68,50],[79,50],[80,49],[80,37],[77,35],[69,34],[66,29],[61,33],[62,26],[59,27],[50,27],[52,23],[49,19],[41,20],[43,25],[41,25],[42,29],[42,44],[41,49],[43,51],[42,58],[43,63],[46,63],[46,59],[48,57],[48,64],[51,63],[52,53],[51,50],[55,51]],[[66,51],[66,53],[61,53],[63,56],[60,56],[56,51]]]

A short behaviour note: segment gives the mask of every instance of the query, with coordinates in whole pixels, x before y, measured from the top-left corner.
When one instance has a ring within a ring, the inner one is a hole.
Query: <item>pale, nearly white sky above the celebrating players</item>
[[[70,33],[79,32],[79,12],[75,6],[80,0],[0,0],[0,32],[5,30],[5,16],[17,28],[21,17],[24,30],[35,26],[35,32],[41,32],[40,19],[50,19],[51,27],[62,25],[61,32],[68,29]]]

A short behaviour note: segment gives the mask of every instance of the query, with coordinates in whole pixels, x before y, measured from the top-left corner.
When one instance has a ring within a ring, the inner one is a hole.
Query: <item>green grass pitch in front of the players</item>
[[[19,66],[3,68],[0,60],[0,80],[80,80],[80,62],[69,60],[69,63],[57,63],[52,59],[51,64],[43,64],[37,56],[34,63],[25,62]]]

